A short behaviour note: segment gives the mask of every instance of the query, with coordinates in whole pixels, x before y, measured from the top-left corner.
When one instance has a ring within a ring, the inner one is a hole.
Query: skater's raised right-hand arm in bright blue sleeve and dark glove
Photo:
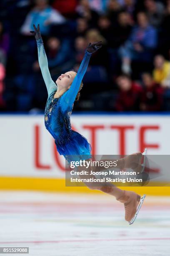
[[[94,43],[94,44],[89,44],[87,46],[87,49],[85,51],[85,55],[84,58],[80,64],[80,67],[78,69],[77,75],[75,76],[71,87],[69,90],[67,90],[67,92],[65,92],[62,97],[61,97],[61,104],[62,104],[62,109],[68,108],[69,106],[72,106],[72,104],[75,101],[75,98],[77,96],[77,93],[80,90],[80,84],[82,82],[82,78],[85,75],[85,72],[87,70],[88,64],[89,64],[89,60],[90,60],[90,56],[97,51],[98,49],[100,49],[102,47],[101,41]]]

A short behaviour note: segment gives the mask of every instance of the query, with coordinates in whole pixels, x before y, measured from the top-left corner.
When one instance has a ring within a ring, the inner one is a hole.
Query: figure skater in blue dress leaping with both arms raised
[[[45,108],[45,127],[55,139],[57,151],[65,157],[68,163],[75,161],[75,157],[79,159],[90,159],[92,158],[90,154],[90,143],[88,143],[85,137],[71,129],[70,115],[73,104],[80,95],[83,85],[82,78],[87,70],[90,57],[102,47],[102,42],[90,43],[87,46],[77,73],[73,71],[66,72],[65,74],[61,74],[56,82],[53,82],[48,69],[47,56],[45,54],[39,24],[37,28],[34,25],[34,31],[30,32],[35,36],[37,42],[38,61],[48,92]],[[138,166],[134,167],[133,163],[139,163],[141,157],[142,153],[140,152],[126,156],[123,159],[119,159],[117,167],[120,169],[136,169]],[[140,197],[135,192],[119,189],[112,184],[110,186],[88,187],[113,195],[116,200],[122,202],[125,206],[125,220],[130,224],[134,222],[145,198],[145,195]]]

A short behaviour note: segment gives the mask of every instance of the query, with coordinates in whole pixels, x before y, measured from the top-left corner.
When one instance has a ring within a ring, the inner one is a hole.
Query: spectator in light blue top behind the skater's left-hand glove
[[[21,27],[21,33],[31,36],[30,31],[33,29],[33,24],[40,24],[42,35],[47,35],[52,23],[62,24],[64,22],[65,18],[48,5],[48,0],[35,0],[35,7],[28,13]]]

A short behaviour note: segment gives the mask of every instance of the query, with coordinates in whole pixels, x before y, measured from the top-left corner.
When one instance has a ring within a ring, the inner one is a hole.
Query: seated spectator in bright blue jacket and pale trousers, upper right
[[[122,71],[131,73],[131,60],[150,61],[157,46],[157,31],[148,22],[145,13],[138,13],[138,25],[133,28],[130,38],[120,48]]]

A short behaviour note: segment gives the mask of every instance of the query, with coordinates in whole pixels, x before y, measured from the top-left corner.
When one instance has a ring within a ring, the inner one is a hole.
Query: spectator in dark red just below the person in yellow
[[[141,111],[160,111],[163,109],[163,88],[155,83],[149,73],[142,75],[144,90],[141,95]]]

